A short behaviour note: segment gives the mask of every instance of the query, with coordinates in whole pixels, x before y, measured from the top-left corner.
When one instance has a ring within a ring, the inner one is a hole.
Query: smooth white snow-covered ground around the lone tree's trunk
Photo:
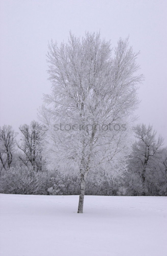
[[[1,256],[165,256],[166,197],[0,195]]]

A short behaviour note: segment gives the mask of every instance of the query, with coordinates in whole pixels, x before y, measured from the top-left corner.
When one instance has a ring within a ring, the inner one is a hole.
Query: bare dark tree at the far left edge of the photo
[[[14,165],[15,161],[13,155],[16,151],[16,133],[12,126],[4,125],[0,127],[0,161],[1,168],[10,168]]]

